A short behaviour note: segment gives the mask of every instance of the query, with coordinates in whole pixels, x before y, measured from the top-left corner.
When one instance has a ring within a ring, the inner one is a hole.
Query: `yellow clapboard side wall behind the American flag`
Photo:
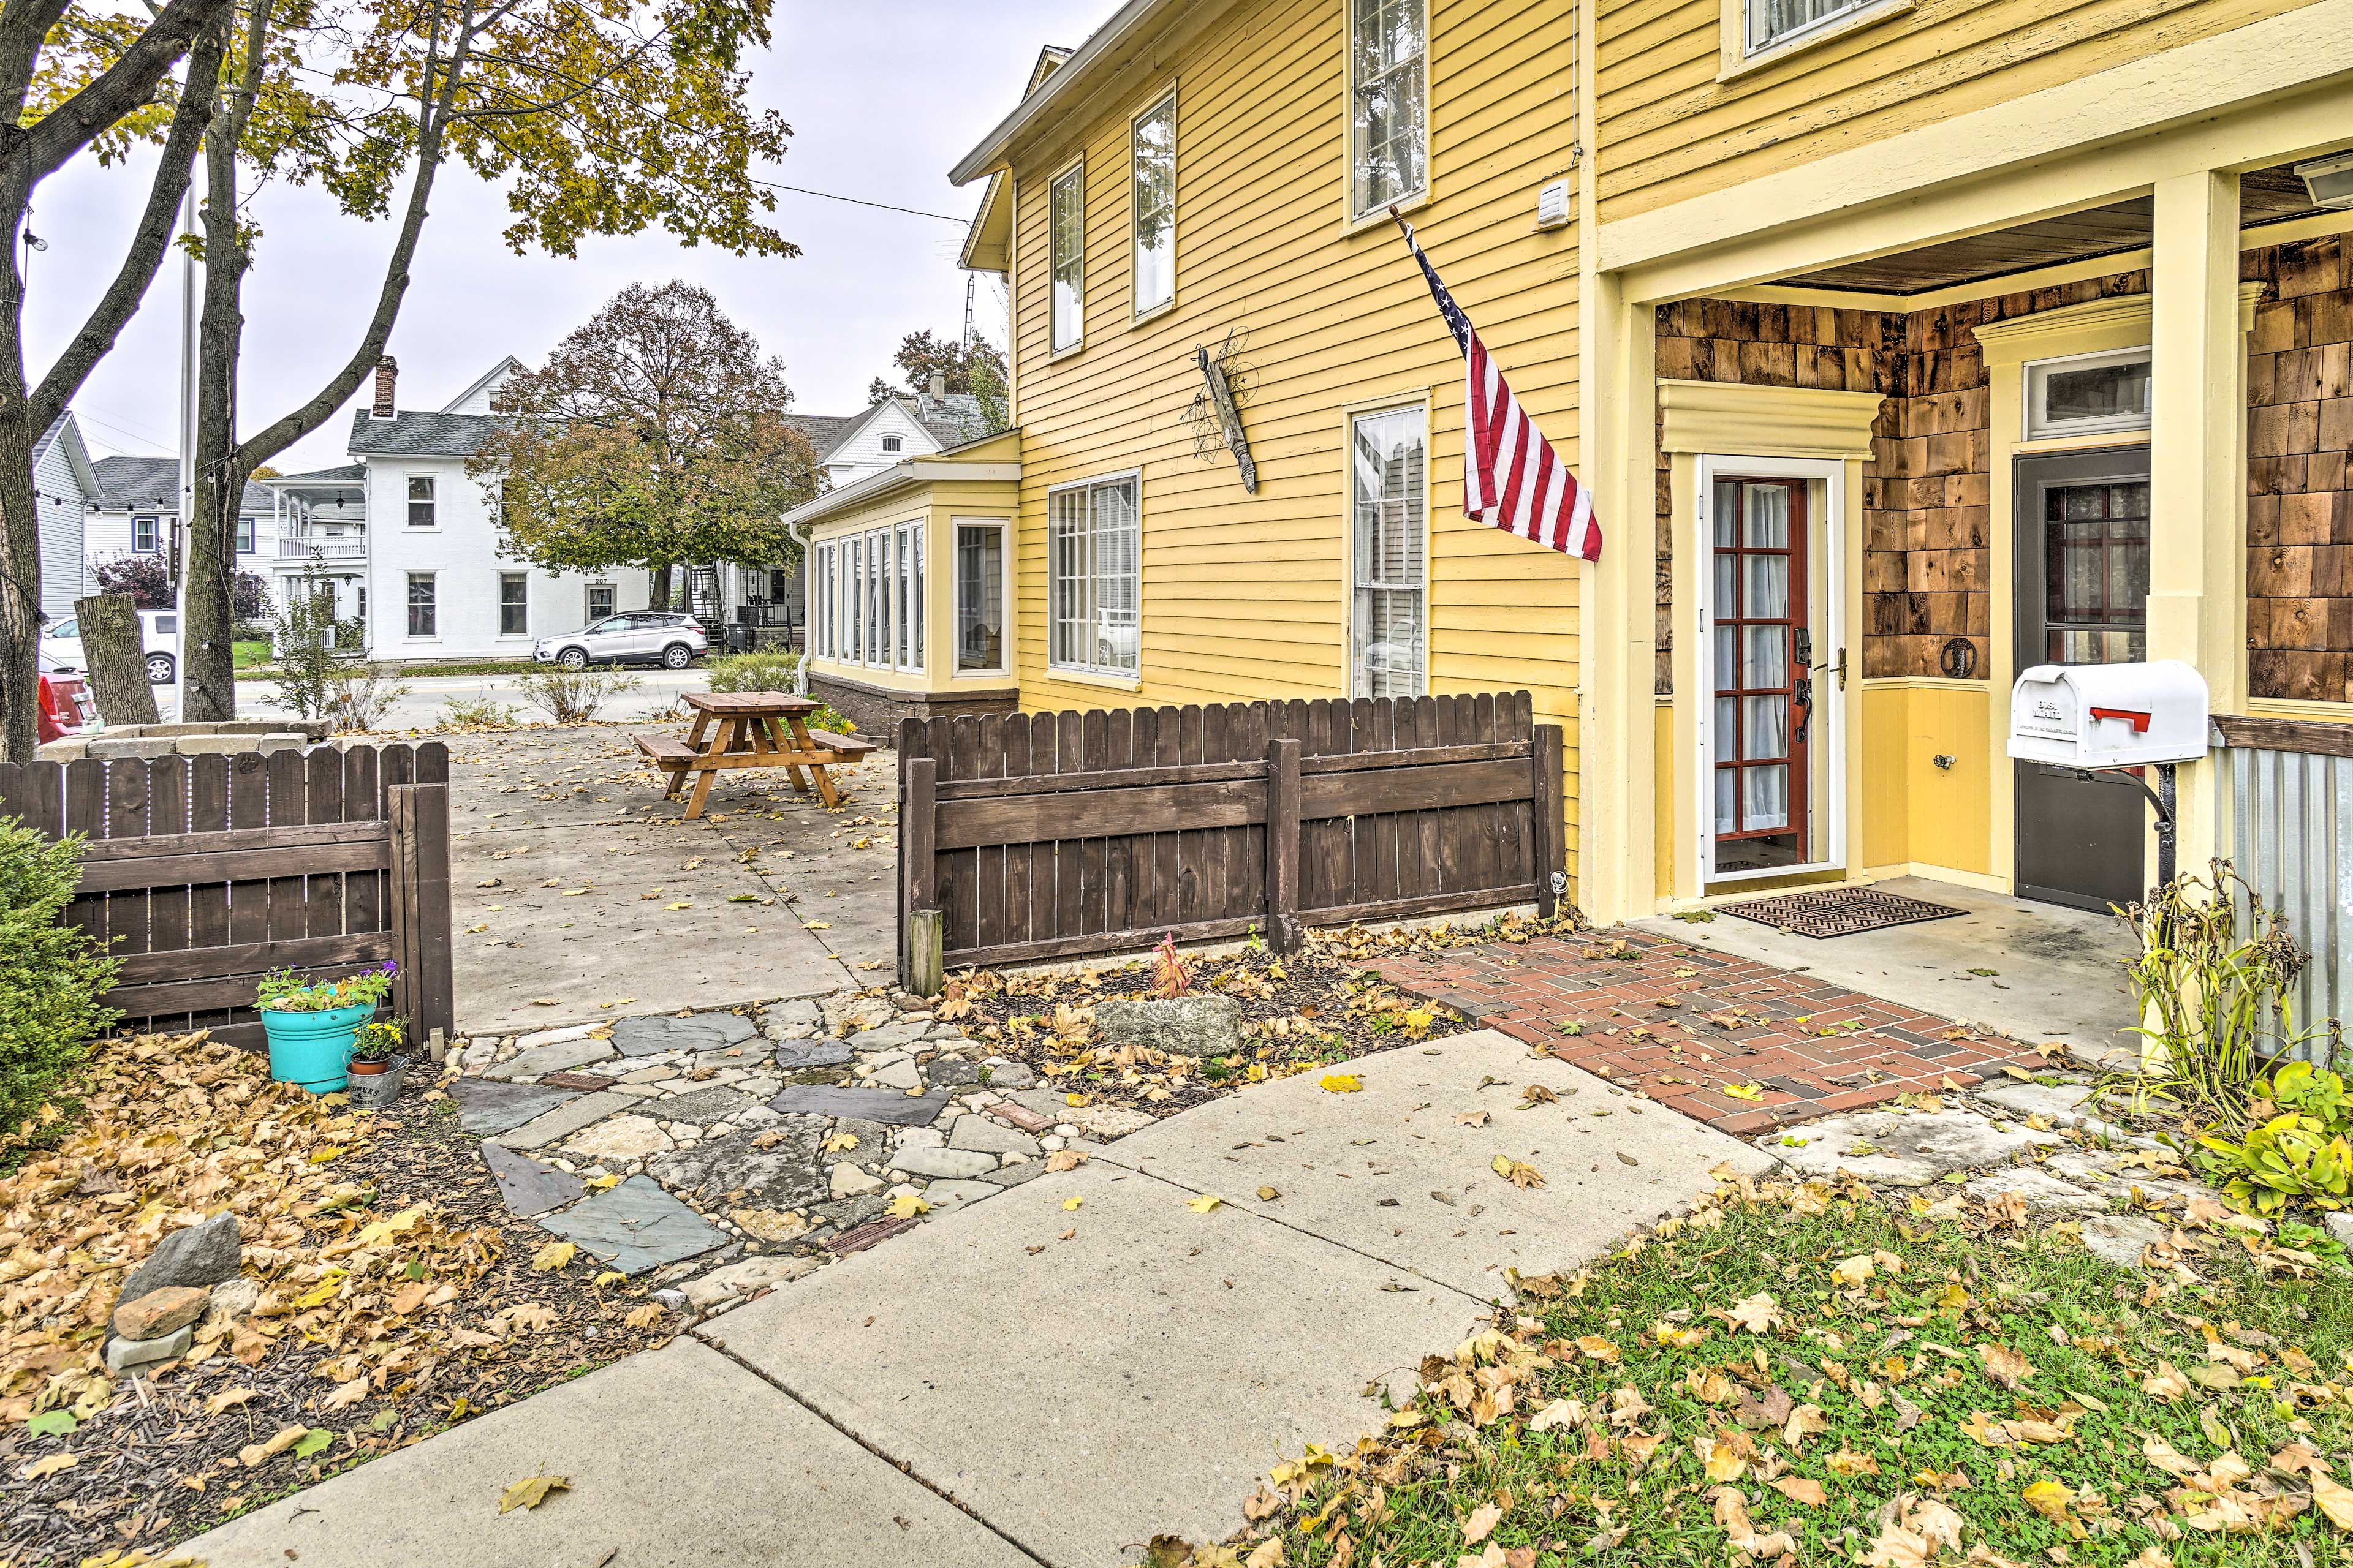
[[[1136,701],[1339,693],[1346,682],[1344,409],[1431,400],[1431,689],[1529,686],[1574,726],[1577,571],[1461,517],[1461,357],[1388,223],[1344,230],[1341,0],[1245,0],[1014,160],[1024,433],[1016,611],[1031,708],[1127,701],[1047,670],[1047,489],[1141,468]],[[1431,2],[1433,261],[1562,456],[1577,456],[1577,237],[1534,233],[1577,141],[1574,5]],[[1129,320],[1129,115],[1176,89],[1176,303]],[[1085,346],[1049,355],[1047,181],[1087,160]],[[1193,348],[1235,329],[1259,463],[1195,456]],[[1605,520],[1605,527],[1609,520]],[[1574,776],[1574,731],[1572,762]],[[1569,792],[1574,795],[1574,778]],[[1574,806],[1572,806],[1574,811]]]

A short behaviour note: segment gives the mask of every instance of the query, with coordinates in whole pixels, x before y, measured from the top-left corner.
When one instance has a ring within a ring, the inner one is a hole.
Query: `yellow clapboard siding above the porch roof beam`
[[[2304,0],[1922,0],[1718,82],[1718,0],[1602,0],[1600,221],[2177,49]]]

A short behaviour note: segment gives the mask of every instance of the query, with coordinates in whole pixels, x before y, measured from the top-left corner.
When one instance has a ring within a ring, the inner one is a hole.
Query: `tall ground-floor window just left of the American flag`
[[[1414,409],[1348,421],[1348,693],[1428,691],[1426,416]]]

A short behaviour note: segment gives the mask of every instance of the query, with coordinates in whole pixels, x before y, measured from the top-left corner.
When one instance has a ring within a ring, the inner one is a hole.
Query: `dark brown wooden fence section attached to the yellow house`
[[[1562,870],[1560,729],[1525,691],[906,719],[899,952],[946,964],[1537,900]]]

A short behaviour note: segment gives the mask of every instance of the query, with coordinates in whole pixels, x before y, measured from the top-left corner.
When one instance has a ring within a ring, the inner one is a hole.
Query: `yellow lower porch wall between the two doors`
[[[1993,875],[1984,682],[1864,684],[1864,865]],[[1939,769],[1937,757],[1953,757]]]

